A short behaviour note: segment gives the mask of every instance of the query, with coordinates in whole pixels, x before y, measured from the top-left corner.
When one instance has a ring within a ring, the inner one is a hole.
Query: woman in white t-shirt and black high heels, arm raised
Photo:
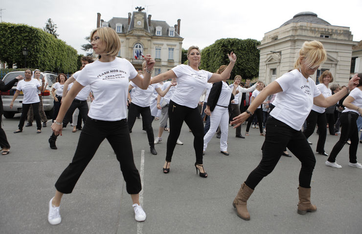
[[[204,146],[204,123],[197,108],[198,103],[207,86],[207,82],[219,82],[227,78],[234,67],[236,55],[231,52],[230,63],[222,74],[211,73],[200,70],[201,54],[199,47],[191,46],[187,51],[188,65],[178,65],[173,69],[159,74],[152,78],[151,83],[158,83],[166,79],[177,79],[175,90],[168,107],[170,121],[170,135],[167,139],[166,161],[163,166],[163,173],[170,172],[171,158],[180,136],[183,121],[186,122],[194,135],[194,149],[196,154],[196,173],[200,172],[201,177],[207,177],[203,166]]]

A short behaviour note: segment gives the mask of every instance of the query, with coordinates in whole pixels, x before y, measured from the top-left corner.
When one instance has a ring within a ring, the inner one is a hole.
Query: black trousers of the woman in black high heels
[[[168,118],[170,121],[170,134],[167,138],[166,161],[171,162],[177,139],[180,136],[183,121],[194,135],[194,149],[196,162],[203,164],[204,124],[199,109],[179,105],[172,100],[168,105]]]

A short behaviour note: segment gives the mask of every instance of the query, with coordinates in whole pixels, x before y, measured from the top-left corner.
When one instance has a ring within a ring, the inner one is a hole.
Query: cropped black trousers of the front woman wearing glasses
[[[138,194],[141,191],[141,179],[133,159],[127,120],[102,121],[87,117],[73,160],[55,183],[55,188],[59,192],[70,194],[73,191],[79,177],[105,138],[111,144],[119,161],[127,193]]]

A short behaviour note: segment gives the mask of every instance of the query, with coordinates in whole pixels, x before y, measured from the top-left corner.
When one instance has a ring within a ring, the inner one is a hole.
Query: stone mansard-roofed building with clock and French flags
[[[116,31],[121,41],[118,57],[128,59],[136,70],[142,69],[140,53],[151,54],[156,60],[152,75],[156,76],[181,64],[181,20],[170,26],[162,20],[151,20],[151,15],[142,10],[128,13],[128,18],[113,17],[109,21],[101,20],[101,14],[97,13],[97,27],[111,27]]]

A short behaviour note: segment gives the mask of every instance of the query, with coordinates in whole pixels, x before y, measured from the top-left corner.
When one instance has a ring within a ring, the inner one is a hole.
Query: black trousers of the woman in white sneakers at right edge
[[[351,140],[351,145],[349,146],[349,162],[357,162],[357,148],[359,140],[359,129],[357,128],[357,118],[358,114],[355,112],[343,112],[340,114],[340,137],[336,145],[333,147],[331,154],[328,157],[328,161],[335,162],[338,153],[342,150],[344,144],[348,139]]]

